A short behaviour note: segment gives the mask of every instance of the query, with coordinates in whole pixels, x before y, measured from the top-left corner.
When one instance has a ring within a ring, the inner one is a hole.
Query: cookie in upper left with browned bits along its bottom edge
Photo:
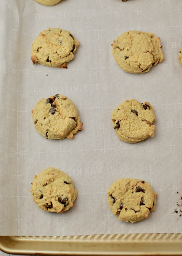
[[[48,66],[67,68],[66,63],[74,58],[74,53],[80,43],[62,29],[50,29],[41,32],[32,44],[31,60]]]

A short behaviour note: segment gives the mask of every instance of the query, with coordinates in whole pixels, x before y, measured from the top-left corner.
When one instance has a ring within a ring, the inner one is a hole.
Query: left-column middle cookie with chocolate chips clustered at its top
[[[41,99],[32,110],[32,118],[35,129],[46,139],[72,139],[82,130],[76,106],[60,94]]]

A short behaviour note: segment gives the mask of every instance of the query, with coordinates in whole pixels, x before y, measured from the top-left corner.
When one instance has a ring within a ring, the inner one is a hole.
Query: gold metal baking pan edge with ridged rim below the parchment
[[[182,234],[0,236],[0,250],[25,255],[182,255]]]

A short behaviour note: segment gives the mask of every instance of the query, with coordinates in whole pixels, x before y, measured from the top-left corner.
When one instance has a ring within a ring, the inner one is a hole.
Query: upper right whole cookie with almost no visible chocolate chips
[[[113,41],[112,55],[125,72],[143,74],[163,61],[160,41],[153,33],[128,31]]]

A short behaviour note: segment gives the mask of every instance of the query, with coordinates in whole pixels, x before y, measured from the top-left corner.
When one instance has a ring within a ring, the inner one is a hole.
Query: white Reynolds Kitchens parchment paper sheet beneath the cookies
[[[52,7],[33,0],[2,2],[1,236],[182,232],[181,12],[180,0],[66,0]],[[30,60],[31,44],[48,27],[69,30],[80,42],[66,70]],[[122,71],[111,44],[128,30],[160,37],[165,60],[146,74]],[[72,140],[46,140],[33,127],[37,101],[56,93],[78,108],[83,130]],[[154,107],[154,138],[118,140],[111,112],[130,98]],[[41,211],[29,192],[35,174],[47,167],[67,173],[78,191],[64,214]],[[158,193],[155,212],[141,222],[121,222],[108,208],[108,187],[124,177],[148,181]]]

